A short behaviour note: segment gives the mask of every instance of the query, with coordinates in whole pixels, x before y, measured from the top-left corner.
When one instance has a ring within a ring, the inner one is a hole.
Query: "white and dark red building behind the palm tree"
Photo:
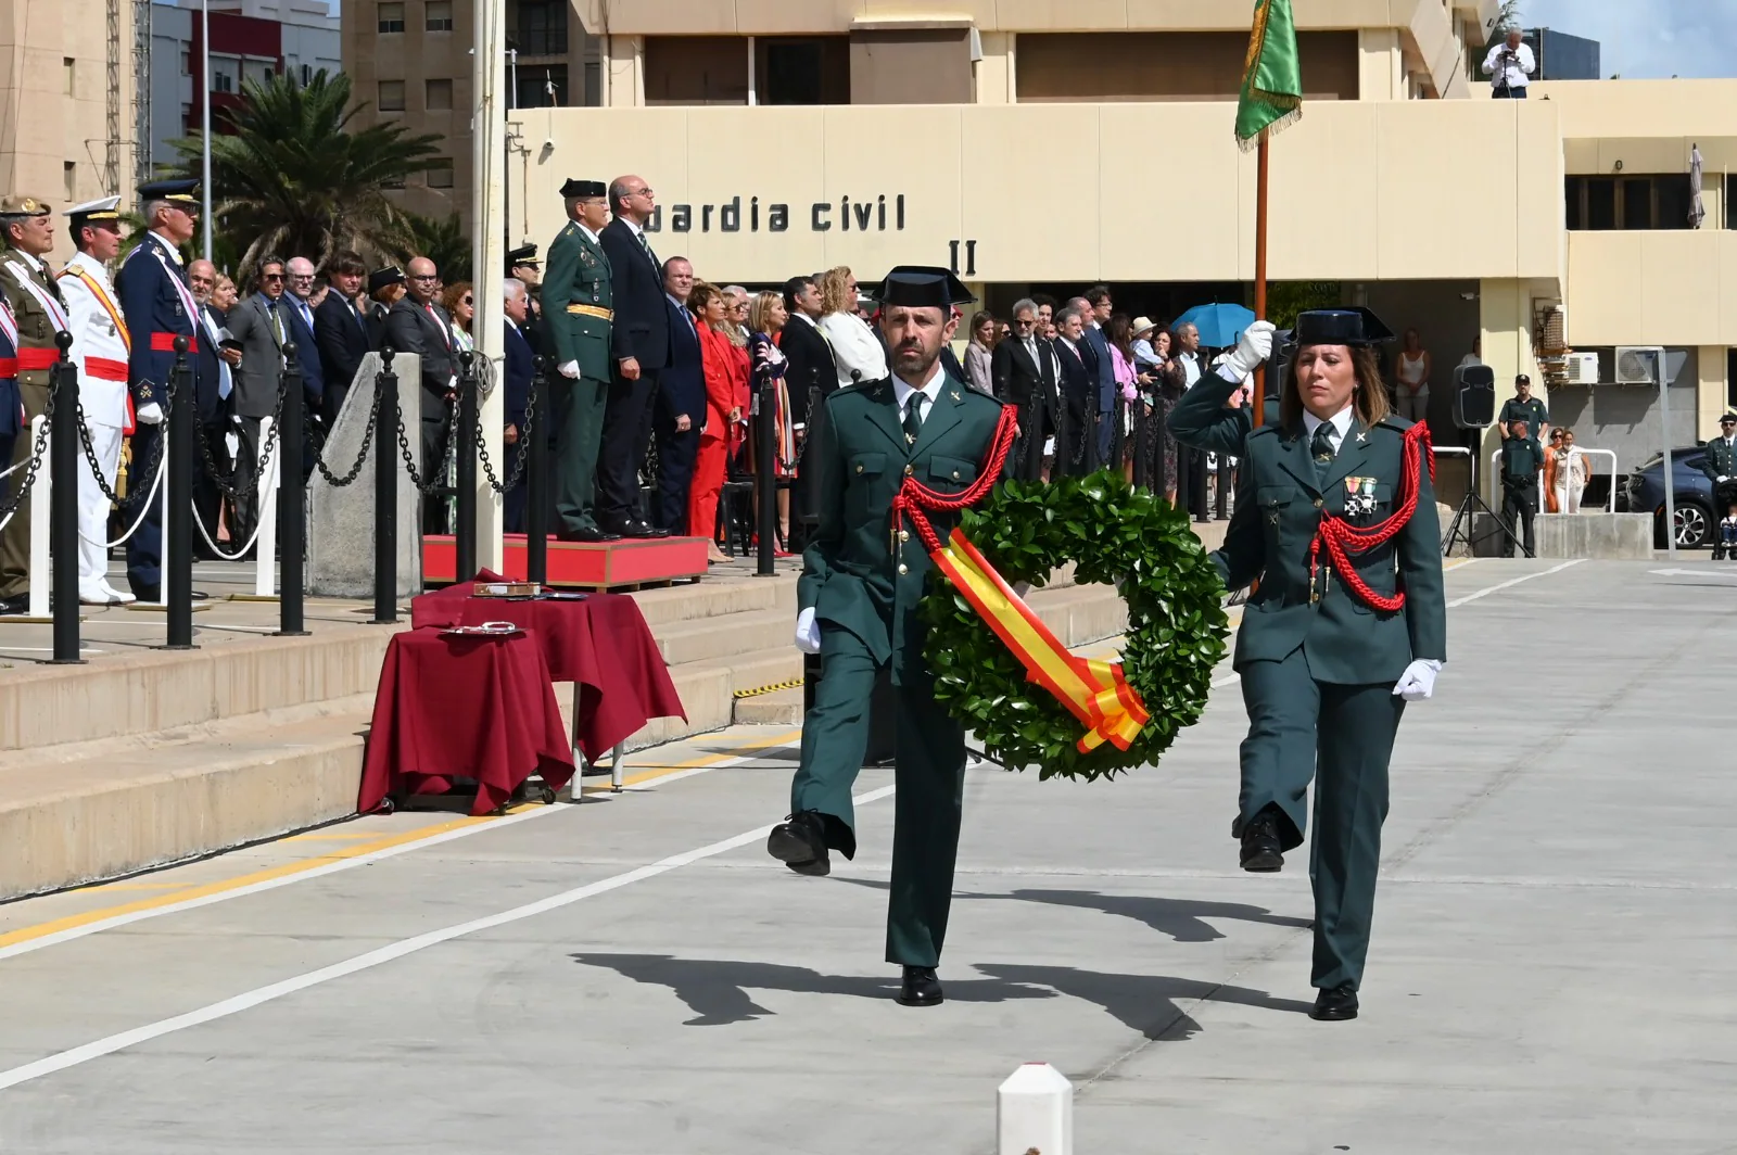
[[[151,163],[174,165],[172,141],[198,132],[205,115],[241,99],[245,80],[273,75],[307,82],[342,68],[339,21],[325,0],[212,0],[210,76],[205,69],[201,0],[151,5]],[[221,132],[221,120],[214,132]]]

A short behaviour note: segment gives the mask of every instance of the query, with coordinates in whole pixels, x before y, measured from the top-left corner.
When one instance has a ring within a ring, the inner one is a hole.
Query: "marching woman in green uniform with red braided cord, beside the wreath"
[[[1317,1020],[1357,1018],[1393,736],[1447,658],[1430,445],[1388,412],[1372,349],[1388,335],[1367,311],[1298,318],[1280,420],[1247,434],[1212,554],[1228,589],[1258,582],[1235,651],[1245,870],[1278,870],[1303,844],[1317,780]]]

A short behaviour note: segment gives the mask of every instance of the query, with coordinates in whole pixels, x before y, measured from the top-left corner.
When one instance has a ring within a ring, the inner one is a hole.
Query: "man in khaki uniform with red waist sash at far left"
[[[24,403],[12,465],[30,460],[35,445],[30,422],[49,408],[49,370],[61,356],[56,337],[69,325],[66,302],[42,259],[54,248],[54,219],[49,203],[35,196],[0,200],[0,294],[17,321],[17,393]],[[14,488],[26,469],[12,474]],[[19,502],[0,535],[0,613],[30,608],[30,500]]]

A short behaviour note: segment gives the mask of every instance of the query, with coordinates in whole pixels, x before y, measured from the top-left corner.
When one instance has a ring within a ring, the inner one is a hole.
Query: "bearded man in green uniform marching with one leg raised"
[[[971,294],[947,269],[900,266],[881,285],[881,330],[893,375],[832,393],[820,443],[820,526],[802,554],[796,643],[822,657],[815,705],[802,724],[802,761],[790,787],[790,816],[773,828],[768,853],[797,874],[830,870],[830,851],[856,853],[851,783],[868,747],[868,698],[881,670],[898,696],[893,889],[886,960],[903,967],[898,1000],[941,1002],[935,967],[947,936],[964,728],[933,696],[917,620],[929,556],[908,526],[893,523],[905,478],[933,490],[969,488],[990,453],[1001,401],[941,366],[957,328],[954,306]],[[818,457],[815,457],[818,455]],[[931,514],[945,538],[957,514]]]

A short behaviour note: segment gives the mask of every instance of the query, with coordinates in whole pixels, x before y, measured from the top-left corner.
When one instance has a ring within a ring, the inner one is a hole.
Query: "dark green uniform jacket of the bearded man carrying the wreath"
[[[931,568],[915,531],[898,526],[893,538],[893,498],[907,476],[943,493],[968,488],[999,420],[1001,401],[954,377],[929,406],[915,445],[905,441],[891,379],[827,398],[822,443],[808,450],[822,464],[820,526],[802,554],[797,603],[856,634],[875,662],[889,662],[893,684],[928,676],[917,603]],[[928,518],[941,540],[959,521],[957,514]]]

